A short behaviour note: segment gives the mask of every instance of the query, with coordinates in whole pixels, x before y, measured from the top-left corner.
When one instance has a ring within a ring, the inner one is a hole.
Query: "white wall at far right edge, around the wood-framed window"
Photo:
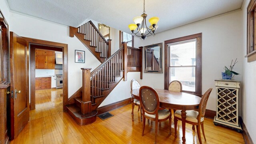
[[[246,55],[247,49],[247,6],[250,0],[244,0],[242,5],[242,56]],[[256,61],[247,62],[247,58],[243,58],[243,85],[242,85],[242,118],[246,128],[256,143]]]

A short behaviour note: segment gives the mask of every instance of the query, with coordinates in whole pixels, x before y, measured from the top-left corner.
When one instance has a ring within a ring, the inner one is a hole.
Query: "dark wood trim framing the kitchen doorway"
[[[68,104],[68,44],[63,44],[63,43],[59,43],[59,42],[51,42],[51,41],[46,41],[46,40],[38,40],[38,39],[34,39],[34,38],[26,38],[26,37],[22,37],[22,38],[24,38],[28,42],[27,46],[28,46],[28,44],[43,44],[46,46],[55,46],[55,47],[62,48],[62,54],[63,54],[63,110],[65,111],[66,105]],[[33,63],[31,63],[31,64],[33,64]],[[30,64],[30,67],[32,67],[31,64]],[[32,77],[33,74],[31,72],[35,72],[35,70],[30,70],[30,82],[35,83],[35,74],[34,74],[34,77]],[[31,96],[30,100],[32,100],[32,96],[35,97],[35,93],[32,93],[32,92],[34,92],[32,90],[33,87],[34,86],[32,86],[30,88],[30,96]],[[35,101],[34,102],[31,101],[31,108],[33,108],[33,104],[35,104]]]

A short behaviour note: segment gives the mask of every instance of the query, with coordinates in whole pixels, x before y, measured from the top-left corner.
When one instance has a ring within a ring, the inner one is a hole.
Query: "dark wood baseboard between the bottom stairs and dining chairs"
[[[115,110],[117,108],[121,108],[121,107],[126,106],[127,104],[130,104],[130,103],[131,103],[131,98],[126,98],[124,100],[120,100],[118,102],[114,102],[112,104],[108,104],[106,106],[99,107],[99,108],[97,108],[97,111],[98,111],[97,115]]]

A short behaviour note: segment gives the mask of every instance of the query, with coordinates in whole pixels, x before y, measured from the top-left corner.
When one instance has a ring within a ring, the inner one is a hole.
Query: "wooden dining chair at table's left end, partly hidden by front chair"
[[[137,80],[132,80],[131,81],[131,90],[134,90],[137,88],[140,88],[140,83]],[[140,106],[140,100],[136,100],[136,99],[132,98],[132,121],[134,121],[134,118],[133,118],[134,117],[134,114],[133,114],[134,105],[138,106],[138,111],[140,110],[140,119],[142,120],[142,110],[141,110],[141,106]]]

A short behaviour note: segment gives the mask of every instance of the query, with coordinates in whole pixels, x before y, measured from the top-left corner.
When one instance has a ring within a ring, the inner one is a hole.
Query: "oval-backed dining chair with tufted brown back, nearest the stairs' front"
[[[156,91],[153,88],[148,86],[140,87],[140,104],[142,107],[142,136],[144,134],[146,118],[155,121],[155,144],[156,136],[158,130],[158,122],[163,122],[169,119],[170,132],[171,134],[171,122],[172,122],[172,113],[169,110],[159,110],[160,102],[159,97]]]

